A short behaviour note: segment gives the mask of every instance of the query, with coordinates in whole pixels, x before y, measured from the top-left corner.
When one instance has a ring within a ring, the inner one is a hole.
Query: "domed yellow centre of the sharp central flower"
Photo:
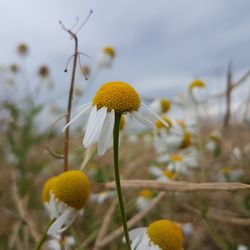
[[[97,91],[92,105],[97,106],[97,109],[106,107],[109,112],[113,109],[118,113],[131,113],[140,108],[141,100],[128,83],[108,82]]]

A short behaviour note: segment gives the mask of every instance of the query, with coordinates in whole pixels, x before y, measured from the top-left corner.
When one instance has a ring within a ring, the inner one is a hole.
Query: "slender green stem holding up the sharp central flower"
[[[120,174],[119,174],[119,125],[120,125],[121,116],[122,116],[121,113],[115,113],[115,125],[114,125],[114,131],[113,131],[114,169],[115,169],[116,190],[117,190],[117,196],[118,196],[119,206],[120,206],[120,211],[121,211],[121,216],[122,216],[124,235],[126,238],[127,248],[131,250],[129,235],[128,235],[126,213],[125,213],[124,203],[123,203],[123,198],[122,198]]]

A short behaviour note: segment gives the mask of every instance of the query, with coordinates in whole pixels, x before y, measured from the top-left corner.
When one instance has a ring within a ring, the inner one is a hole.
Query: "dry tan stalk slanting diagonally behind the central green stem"
[[[160,192],[150,203],[149,205],[142,210],[141,212],[139,212],[138,214],[136,214],[133,218],[131,218],[127,224],[128,224],[128,228],[133,227],[137,222],[141,221],[142,218],[144,218],[158,203],[159,201],[161,201],[161,199],[164,197],[165,193],[164,192]],[[98,247],[104,247],[107,244],[109,244],[110,242],[112,242],[113,240],[115,240],[117,237],[119,237],[120,235],[123,234],[123,227],[119,227],[118,229],[114,230],[113,232],[111,232],[109,235],[107,235],[99,244]]]

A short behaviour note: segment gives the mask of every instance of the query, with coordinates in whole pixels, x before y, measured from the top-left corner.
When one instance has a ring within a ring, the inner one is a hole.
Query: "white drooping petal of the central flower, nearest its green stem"
[[[106,115],[106,119],[103,124],[103,128],[98,140],[98,154],[105,154],[106,150],[110,147],[110,141],[113,138],[113,129],[115,121],[115,112],[112,110]],[[112,145],[112,144],[111,144]]]

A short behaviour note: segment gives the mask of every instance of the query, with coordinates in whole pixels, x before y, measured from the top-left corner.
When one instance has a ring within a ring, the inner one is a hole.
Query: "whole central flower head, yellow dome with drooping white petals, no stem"
[[[80,116],[88,117],[83,145],[89,147],[97,143],[98,153],[103,155],[112,147],[116,113],[135,118],[151,128],[155,128],[153,122],[155,119],[159,119],[168,127],[161,117],[141,103],[138,93],[132,86],[124,82],[108,82],[100,87],[92,103],[83,105],[80,114],[73,118],[65,128]]]

